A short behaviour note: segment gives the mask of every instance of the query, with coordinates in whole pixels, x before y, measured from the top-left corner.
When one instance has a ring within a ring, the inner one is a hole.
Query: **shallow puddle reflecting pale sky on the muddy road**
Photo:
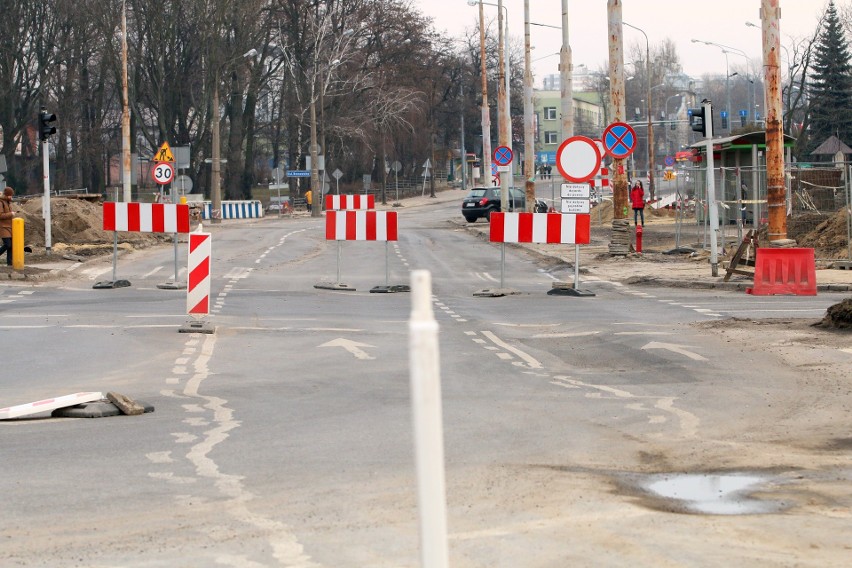
[[[658,474],[639,481],[639,487],[653,497],[652,506],[665,511],[704,515],[758,515],[776,513],[788,507],[781,501],[753,497],[761,491],[765,477],[746,473]]]

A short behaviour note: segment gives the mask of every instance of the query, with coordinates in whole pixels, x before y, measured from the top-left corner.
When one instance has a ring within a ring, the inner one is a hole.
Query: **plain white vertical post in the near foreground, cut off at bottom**
[[[409,364],[420,510],[420,563],[424,568],[449,566],[447,497],[444,482],[444,432],[438,322],[432,311],[432,275],[411,273]]]

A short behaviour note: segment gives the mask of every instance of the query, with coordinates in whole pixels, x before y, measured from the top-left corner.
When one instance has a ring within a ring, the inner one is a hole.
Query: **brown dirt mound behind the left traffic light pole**
[[[12,209],[24,220],[24,242],[36,250],[45,246],[42,198],[15,201]],[[101,203],[85,199],[52,197],[50,199],[51,246],[70,249],[80,254],[86,250],[99,250],[101,245],[112,245],[114,233],[104,231]],[[144,248],[169,239],[167,235],[153,233],[119,232],[119,243],[133,248]],[[79,249],[79,251],[78,251]]]

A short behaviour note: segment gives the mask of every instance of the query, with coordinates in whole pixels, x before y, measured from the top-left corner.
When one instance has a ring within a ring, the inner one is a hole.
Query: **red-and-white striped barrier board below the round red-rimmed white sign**
[[[572,213],[492,213],[493,243],[553,243],[586,245],[590,216]]]

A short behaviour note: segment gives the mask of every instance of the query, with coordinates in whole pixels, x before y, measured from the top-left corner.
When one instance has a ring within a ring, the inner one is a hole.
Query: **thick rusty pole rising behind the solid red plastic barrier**
[[[784,186],[784,124],[781,112],[781,8],[778,0],[761,0],[763,69],[766,85],[766,201],[769,207],[769,240],[787,239],[786,190]]]

